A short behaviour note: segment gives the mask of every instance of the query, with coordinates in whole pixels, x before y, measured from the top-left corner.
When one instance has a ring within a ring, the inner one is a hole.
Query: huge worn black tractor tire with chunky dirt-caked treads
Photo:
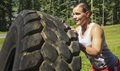
[[[80,47],[70,25],[40,11],[23,10],[0,52],[0,71],[80,71]]]

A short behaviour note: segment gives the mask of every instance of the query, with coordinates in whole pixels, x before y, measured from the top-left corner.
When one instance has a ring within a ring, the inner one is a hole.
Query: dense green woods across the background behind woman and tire
[[[92,6],[91,1],[93,1],[91,8],[93,22],[100,25],[120,23],[120,0],[0,0],[0,30],[7,30],[7,24],[11,25],[14,17],[24,9],[40,10],[74,25],[72,19],[74,6],[80,2],[87,2]]]

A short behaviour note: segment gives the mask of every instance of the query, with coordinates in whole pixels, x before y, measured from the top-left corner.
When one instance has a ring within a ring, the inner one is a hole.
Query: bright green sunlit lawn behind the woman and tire
[[[106,42],[110,50],[120,59],[120,25],[103,26],[105,32]],[[0,39],[0,48],[2,47],[4,39]],[[91,71],[91,64],[83,52],[80,53],[82,57],[82,70]]]

